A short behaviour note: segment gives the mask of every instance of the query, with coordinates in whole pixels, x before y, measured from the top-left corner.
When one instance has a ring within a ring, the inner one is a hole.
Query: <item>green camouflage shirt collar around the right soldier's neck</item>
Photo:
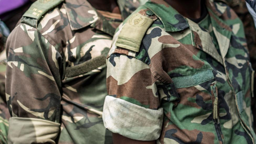
[[[218,17],[223,14],[213,0],[205,1],[207,8],[211,9]],[[165,31],[175,32],[189,28],[188,20],[164,0],[150,0],[144,6],[161,20]]]

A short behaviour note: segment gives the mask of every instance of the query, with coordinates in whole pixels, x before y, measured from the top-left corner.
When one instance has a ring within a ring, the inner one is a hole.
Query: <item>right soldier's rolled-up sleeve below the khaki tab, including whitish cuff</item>
[[[163,109],[150,67],[126,55],[112,54],[107,61],[104,125],[110,131],[141,141],[159,138]]]

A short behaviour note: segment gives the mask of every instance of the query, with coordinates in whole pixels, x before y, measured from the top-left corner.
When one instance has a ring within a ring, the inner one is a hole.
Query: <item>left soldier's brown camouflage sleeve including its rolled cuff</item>
[[[7,39],[9,143],[55,143],[60,130],[59,45],[36,28],[18,25]]]

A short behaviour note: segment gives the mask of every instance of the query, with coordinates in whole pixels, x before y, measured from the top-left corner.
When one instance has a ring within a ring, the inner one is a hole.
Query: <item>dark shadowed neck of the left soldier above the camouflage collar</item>
[[[95,9],[120,13],[116,0],[87,0]]]

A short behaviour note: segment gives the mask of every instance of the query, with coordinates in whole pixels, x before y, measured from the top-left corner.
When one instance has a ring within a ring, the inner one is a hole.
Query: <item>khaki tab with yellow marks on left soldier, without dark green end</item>
[[[56,7],[63,1],[65,0],[37,0],[29,7],[22,17],[39,20],[48,10]]]

